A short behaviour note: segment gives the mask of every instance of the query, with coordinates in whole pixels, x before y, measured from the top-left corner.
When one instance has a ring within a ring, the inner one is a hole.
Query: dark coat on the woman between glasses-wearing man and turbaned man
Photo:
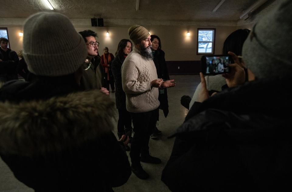
[[[126,94],[123,91],[122,86],[122,73],[121,68],[123,65],[125,58],[120,58],[120,55],[117,55],[115,59],[113,59],[111,68],[113,72],[113,77],[115,79],[116,85],[116,108],[117,109],[126,109]]]

